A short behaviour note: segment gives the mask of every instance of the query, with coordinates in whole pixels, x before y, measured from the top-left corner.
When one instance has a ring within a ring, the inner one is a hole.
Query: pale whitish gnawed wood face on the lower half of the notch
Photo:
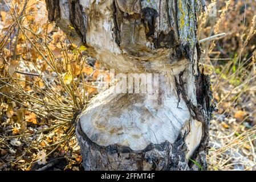
[[[93,98],[80,116],[87,137],[100,146],[116,143],[135,151],[151,143],[174,143],[193,118],[186,102],[170,89],[176,88],[174,77],[162,75],[159,79],[156,100],[149,94],[116,93],[116,85]],[[200,144],[200,138],[194,146]]]

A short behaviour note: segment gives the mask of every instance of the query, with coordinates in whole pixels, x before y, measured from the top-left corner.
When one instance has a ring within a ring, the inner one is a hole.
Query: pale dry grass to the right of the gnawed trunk
[[[255,1],[219,1],[218,16],[201,15],[202,38],[226,37],[201,45],[201,64],[212,74],[214,113],[210,130],[210,170],[255,170]],[[212,1],[209,9],[216,5]],[[222,8],[221,8],[222,7]]]

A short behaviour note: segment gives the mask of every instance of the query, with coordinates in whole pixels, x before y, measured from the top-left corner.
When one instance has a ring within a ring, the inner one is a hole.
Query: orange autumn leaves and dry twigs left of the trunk
[[[0,169],[38,169],[42,152],[63,159],[60,169],[80,169],[74,114],[107,71],[47,22],[44,2],[2,7]]]

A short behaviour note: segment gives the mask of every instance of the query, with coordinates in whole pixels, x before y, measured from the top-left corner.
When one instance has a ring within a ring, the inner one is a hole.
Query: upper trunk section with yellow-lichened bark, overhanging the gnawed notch
[[[92,47],[88,51],[92,57],[121,73],[166,72],[177,60],[188,58],[196,44],[198,4],[194,0],[87,0],[72,1],[72,6],[68,0],[58,1],[59,7],[57,1],[54,6],[53,1],[46,1],[51,5],[47,6],[50,20],[55,20],[74,43],[84,40]],[[70,7],[81,10],[74,16]],[[78,19],[80,23],[74,23]]]

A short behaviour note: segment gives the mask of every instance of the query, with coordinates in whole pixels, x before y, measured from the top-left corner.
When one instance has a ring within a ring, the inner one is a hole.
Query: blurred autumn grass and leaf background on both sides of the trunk
[[[217,14],[198,15],[199,39],[226,33],[201,43],[218,109],[209,170],[256,170],[256,1],[206,3]],[[48,22],[44,1],[0,0],[0,170],[83,170],[74,113],[108,74]]]

